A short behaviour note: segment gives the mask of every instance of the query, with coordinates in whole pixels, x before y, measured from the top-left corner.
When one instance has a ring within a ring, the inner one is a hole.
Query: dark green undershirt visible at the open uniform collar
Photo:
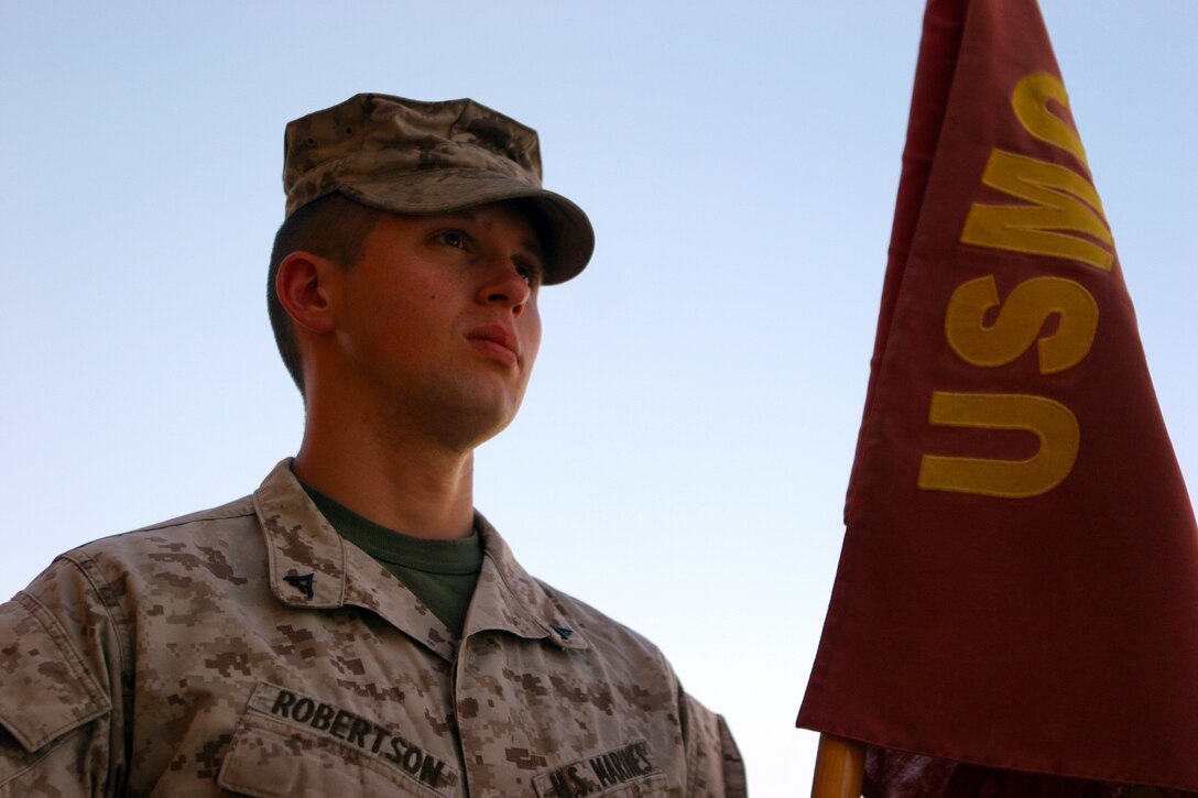
[[[303,489],[338,534],[374,557],[407,586],[458,637],[483,569],[483,546],[476,530],[468,538],[426,540],[388,530],[344,504]]]

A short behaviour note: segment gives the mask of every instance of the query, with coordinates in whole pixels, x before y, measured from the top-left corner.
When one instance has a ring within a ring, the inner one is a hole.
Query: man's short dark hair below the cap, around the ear
[[[274,343],[291,379],[303,395],[303,364],[296,341],[295,322],[279,302],[274,280],[279,264],[294,252],[308,252],[327,258],[343,268],[352,267],[362,255],[367,236],[385,211],[355,202],[341,194],[326,194],[292,213],[274,235],[271,268],[266,278],[266,310],[274,331]]]

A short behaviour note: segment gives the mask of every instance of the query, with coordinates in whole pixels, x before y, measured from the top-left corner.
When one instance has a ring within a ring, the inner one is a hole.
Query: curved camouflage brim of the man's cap
[[[524,199],[538,218],[530,219],[545,248],[545,285],[576,277],[594,252],[591,220],[561,194],[494,171],[480,169],[428,169],[355,181],[338,188],[363,205],[392,213],[424,216],[460,211],[474,205]]]

